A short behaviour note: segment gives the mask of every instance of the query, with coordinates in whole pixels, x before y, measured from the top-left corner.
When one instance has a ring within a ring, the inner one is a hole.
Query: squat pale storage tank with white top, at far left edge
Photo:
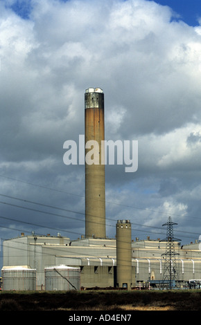
[[[16,266],[3,268],[2,289],[3,290],[36,290],[36,270]]]

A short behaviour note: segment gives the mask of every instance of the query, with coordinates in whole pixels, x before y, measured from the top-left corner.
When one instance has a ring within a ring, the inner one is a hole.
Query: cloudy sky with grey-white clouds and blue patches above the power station
[[[138,169],[107,165],[107,236],[182,243],[201,234],[201,5],[184,0],[0,1],[0,237],[85,234],[88,87],[105,93],[106,140],[137,140]]]

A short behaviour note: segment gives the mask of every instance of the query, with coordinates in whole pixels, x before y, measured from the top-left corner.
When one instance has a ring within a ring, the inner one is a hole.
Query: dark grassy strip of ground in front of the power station
[[[0,310],[201,310],[201,290],[1,291]]]

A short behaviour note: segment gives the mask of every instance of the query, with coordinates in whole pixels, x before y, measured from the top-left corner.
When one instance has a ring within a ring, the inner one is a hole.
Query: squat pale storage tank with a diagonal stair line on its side
[[[80,290],[80,268],[51,266],[44,269],[45,290]]]

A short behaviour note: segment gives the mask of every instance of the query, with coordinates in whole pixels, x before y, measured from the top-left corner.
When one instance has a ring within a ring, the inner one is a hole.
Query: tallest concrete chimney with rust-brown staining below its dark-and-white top
[[[95,140],[97,146],[87,146]],[[105,238],[105,140],[104,93],[100,88],[85,91],[85,237]],[[93,150],[94,163],[87,163],[87,153]],[[102,157],[102,164],[101,164]]]

